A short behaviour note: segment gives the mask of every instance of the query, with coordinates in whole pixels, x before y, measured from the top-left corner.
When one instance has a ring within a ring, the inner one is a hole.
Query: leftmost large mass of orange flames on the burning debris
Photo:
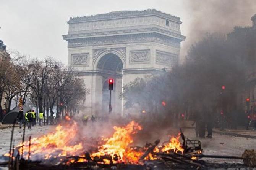
[[[82,143],[73,144],[71,139],[75,138],[77,124],[74,122],[66,127],[58,125],[55,132],[39,138],[31,139],[31,159],[49,159],[51,157],[62,157],[76,155],[83,149]],[[22,143],[17,148],[22,151]],[[24,142],[24,156],[28,159],[29,141]]]

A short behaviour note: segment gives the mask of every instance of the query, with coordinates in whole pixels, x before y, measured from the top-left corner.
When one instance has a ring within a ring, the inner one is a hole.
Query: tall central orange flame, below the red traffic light
[[[131,150],[128,149],[128,145],[133,143],[132,136],[141,130],[141,126],[138,123],[131,121],[125,127],[113,127],[115,132],[111,138],[105,139],[105,144],[99,146],[99,151],[91,154],[91,157],[101,157],[109,155],[112,158],[117,158],[113,160],[114,163],[118,162],[136,162],[137,157],[133,157]],[[132,155],[132,156],[131,156]],[[107,163],[107,162],[106,162]]]

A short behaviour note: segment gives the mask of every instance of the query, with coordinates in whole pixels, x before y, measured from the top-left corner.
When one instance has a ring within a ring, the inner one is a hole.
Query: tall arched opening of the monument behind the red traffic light
[[[119,101],[118,95],[122,91],[122,78],[123,78],[123,62],[117,54],[107,53],[104,54],[97,62],[96,70],[102,72],[102,102],[101,108],[103,113],[109,110],[109,86],[108,79],[114,79],[114,86],[112,91],[112,106],[113,112],[121,110],[121,99]]]

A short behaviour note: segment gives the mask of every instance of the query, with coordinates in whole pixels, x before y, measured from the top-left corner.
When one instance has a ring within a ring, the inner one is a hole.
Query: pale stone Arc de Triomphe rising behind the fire
[[[180,18],[157,10],[117,11],[73,17],[63,35],[68,41],[68,64],[84,79],[90,94],[85,113],[107,113],[108,79],[114,79],[113,113],[122,113],[119,94],[137,77],[157,74],[177,64]]]

